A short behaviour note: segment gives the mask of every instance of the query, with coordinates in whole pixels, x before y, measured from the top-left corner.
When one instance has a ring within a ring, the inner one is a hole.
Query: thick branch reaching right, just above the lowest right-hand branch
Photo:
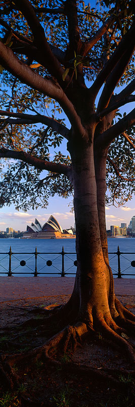
[[[116,95],[116,98],[117,98],[117,95]],[[113,102],[114,102],[114,100],[115,100],[115,96],[113,97]],[[124,99],[118,100],[118,102],[110,103],[109,106],[107,107],[107,109],[104,109],[97,114],[98,120],[102,119],[104,116],[106,116],[111,111],[118,109],[118,107],[121,107],[121,106],[125,105],[126,103],[131,103],[131,102],[135,102],[135,95],[130,95],[128,97],[125,97]]]

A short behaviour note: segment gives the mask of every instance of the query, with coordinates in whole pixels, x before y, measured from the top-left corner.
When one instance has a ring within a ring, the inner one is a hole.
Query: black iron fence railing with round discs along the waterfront
[[[67,275],[67,274],[76,274],[75,272],[70,272],[70,273],[68,273],[67,271],[69,270],[69,269],[71,269],[73,266],[75,266],[75,267],[77,267],[77,260],[73,260],[71,257],[69,257],[68,255],[69,254],[76,254],[75,252],[65,252],[64,251],[64,247],[62,247],[62,251],[61,252],[37,252],[37,249],[35,248],[35,251],[34,252],[21,252],[21,253],[16,253],[16,252],[12,252],[12,249],[11,249],[11,246],[10,246],[10,250],[9,250],[9,252],[0,252],[0,255],[2,255],[2,254],[4,254],[4,255],[6,255],[6,256],[4,256],[3,258],[1,258],[0,259],[0,275],[1,274],[7,274],[9,277],[11,277],[13,274],[33,274],[34,275],[34,277],[37,277],[39,274],[60,274],[61,275],[61,277],[65,277],[65,275]],[[25,258],[25,260],[21,260],[20,261],[20,259],[18,258],[18,257],[16,257],[16,256],[18,256],[18,255],[22,255],[22,254],[25,254],[25,255],[29,255],[29,254],[32,254],[32,256],[31,257],[29,257],[28,259],[26,259]],[[56,258],[54,258],[53,260],[47,260],[47,259],[44,259],[43,257],[42,257],[42,255],[44,255],[44,254],[53,254],[53,255],[56,255],[56,254],[58,254],[58,256],[56,257]],[[116,257],[117,256],[117,271],[115,270],[115,269],[113,269],[112,267],[112,270],[113,271],[115,271],[116,273],[113,273],[113,275],[114,276],[117,276],[117,278],[121,278],[122,276],[135,276],[135,274],[126,274],[126,273],[124,273],[124,271],[126,271],[127,269],[129,269],[130,267],[135,267],[135,260],[129,260],[128,258],[126,258],[125,256],[123,256],[123,254],[126,254],[126,255],[128,255],[128,254],[135,254],[135,252],[120,252],[120,249],[119,249],[119,246],[118,246],[118,248],[117,248],[117,251],[116,252],[109,252],[109,254],[114,254],[114,256],[113,257],[111,257],[110,259],[109,259],[109,261],[110,260],[112,260],[114,257]],[[5,266],[3,266],[2,265],[2,260],[5,260],[5,258],[6,257],[8,257],[9,256],[9,264],[8,264],[8,269],[5,267]],[[28,261],[29,259],[31,259],[32,257],[34,257],[34,270],[33,269],[31,269],[31,267],[29,267],[27,264],[26,264],[26,261]],[[56,267],[56,266],[54,266],[54,264],[53,264],[53,261],[55,261],[56,259],[58,259],[59,257],[61,257],[61,270],[60,269],[58,269],[58,267]],[[70,260],[72,260],[72,262],[73,262],[73,264],[72,264],[72,266],[71,267],[68,267],[68,269],[66,269],[65,270],[65,257],[68,257],[68,259],[70,259]],[[128,267],[126,267],[122,272],[121,272],[121,264],[120,264],[120,257],[123,257],[124,259],[126,259],[127,261],[129,261],[130,262],[130,266],[128,266]],[[46,262],[46,265],[44,265],[43,267],[41,267],[41,268],[39,268],[38,267],[38,259],[42,259],[43,261],[45,261]],[[14,267],[13,269],[12,269],[12,259],[16,259],[16,260],[18,260],[19,261],[19,265],[17,266],[17,267]],[[26,266],[28,269],[30,269],[31,270],[31,272],[15,272],[15,270],[17,270],[17,268],[18,267],[24,267],[24,266]],[[50,266],[53,266],[55,269],[57,269],[58,270],[58,272],[44,272],[44,271],[42,271],[42,272],[40,272],[42,269],[44,269],[45,267],[50,267]],[[5,269],[6,271],[1,271],[1,267],[3,268],[3,269]]]

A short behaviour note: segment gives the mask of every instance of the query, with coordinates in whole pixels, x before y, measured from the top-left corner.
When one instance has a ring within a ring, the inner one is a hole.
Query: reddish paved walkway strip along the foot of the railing
[[[0,277],[0,303],[43,297],[69,296],[74,277]],[[135,278],[115,278],[115,294],[134,297]]]

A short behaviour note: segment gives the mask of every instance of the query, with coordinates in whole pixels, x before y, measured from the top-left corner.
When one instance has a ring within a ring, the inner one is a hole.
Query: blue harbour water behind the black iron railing
[[[126,273],[127,276],[124,278],[135,278],[135,268],[131,267],[131,261],[135,260],[135,238],[108,238],[108,251],[116,252],[119,245],[120,252],[131,252],[134,254],[121,254],[120,265],[121,273]],[[12,249],[12,272],[14,275],[31,275],[35,270],[35,256],[31,252],[40,252],[37,256],[37,271],[40,273],[47,273],[46,275],[58,275],[55,273],[61,273],[62,271],[62,256],[58,252],[62,251],[62,246],[64,246],[64,251],[68,252],[64,256],[64,268],[65,272],[69,273],[69,276],[75,275],[76,267],[74,266],[74,260],[76,259],[76,254],[69,254],[75,252],[75,239],[0,239],[0,275],[6,276],[9,270],[9,255],[1,254],[9,252]],[[46,252],[49,254],[41,254]],[[16,254],[17,253],[17,254]],[[28,254],[19,254],[28,253]],[[29,254],[30,253],[30,254]],[[54,254],[51,254],[54,253]],[[25,260],[26,265],[24,267],[20,266],[20,261]],[[47,266],[47,260],[52,261],[52,266]],[[117,255],[109,254],[110,266],[113,273],[117,273],[118,270],[118,260]],[[72,274],[74,273],[74,274]],[[130,275],[131,274],[131,275]],[[134,274],[134,276],[132,275]],[[44,274],[43,274],[44,275]],[[114,276],[115,277],[115,276]],[[117,277],[117,276],[116,276]]]

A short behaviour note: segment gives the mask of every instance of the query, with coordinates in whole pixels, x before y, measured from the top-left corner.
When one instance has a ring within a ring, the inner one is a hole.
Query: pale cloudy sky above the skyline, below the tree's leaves
[[[91,2],[92,6],[95,6],[95,0]],[[118,89],[118,93],[120,92]],[[130,106],[129,106],[130,105]],[[133,104],[128,104],[120,109],[120,112],[128,112],[129,109],[133,108]],[[67,127],[69,123],[66,121]],[[60,148],[58,149],[60,150]],[[63,154],[68,154],[66,152],[66,142],[62,148]],[[61,224],[62,228],[70,228],[74,226],[74,213],[71,212],[70,202],[72,196],[68,199],[64,199],[55,195],[49,199],[49,206],[47,209],[32,210],[30,209],[27,213],[22,211],[16,211],[15,206],[11,205],[10,207],[4,207],[0,209],[0,230],[6,230],[7,227],[13,227],[15,230],[26,230],[27,224],[30,225],[31,222],[37,218],[40,223],[43,225],[50,217],[53,215],[58,222]],[[121,223],[130,222],[132,216],[135,215],[135,196],[132,196],[132,200],[127,202],[127,207],[116,208],[114,206],[106,207],[106,224],[107,229],[110,229],[110,225],[118,225]]]

